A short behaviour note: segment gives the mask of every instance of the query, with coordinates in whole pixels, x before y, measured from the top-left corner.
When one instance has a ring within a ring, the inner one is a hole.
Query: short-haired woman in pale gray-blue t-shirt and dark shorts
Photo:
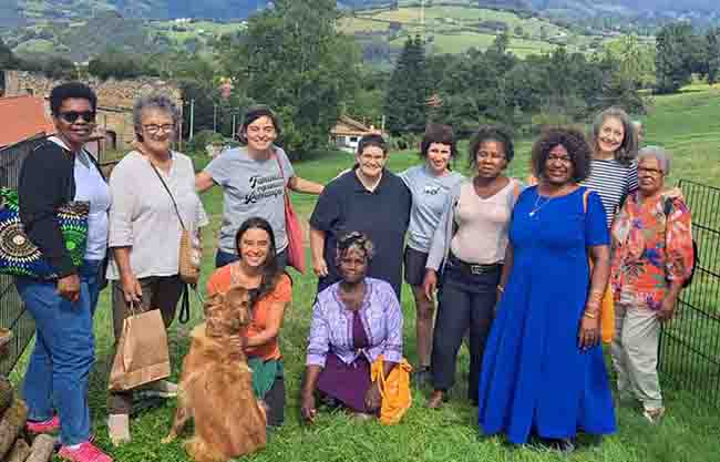
[[[435,304],[425,297],[422,281],[430,244],[440,224],[445,199],[455,185],[464,179],[460,173],[450,170],[450,161],[456,154],[453,130],[448,125],[430,124],[420,143],[420,156],[425,162],[400,174],[412,194],[404,273],[405,281],[412,287],[415,299],[418,367],[413,379],[416,383],[430,380],[430,348]]]

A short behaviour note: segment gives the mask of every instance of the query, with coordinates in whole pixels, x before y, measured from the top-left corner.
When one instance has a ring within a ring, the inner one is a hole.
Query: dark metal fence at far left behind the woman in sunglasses
[[[22,162],[42,140],[37,136],[0,150],[0,186],[18,187]],[[34,321],[20,300],[12,277],[7,275],[0,275],[0,327],[13,333],[8,355],[0,360],[0,374],[7,376],[35,332]]]

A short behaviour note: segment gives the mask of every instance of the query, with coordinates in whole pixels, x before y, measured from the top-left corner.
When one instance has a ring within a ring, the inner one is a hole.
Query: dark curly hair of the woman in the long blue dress
[[[551,151],[562,145],[567,150],[573,163],[573,181],[582,182],[590,175],[593,162],[593,148],[587,143],[585,135],[575,127],[557,126],[544,131],[539,138],[533,144],[531,162],[533,174],[542,178],[545,174],[545,164]]]

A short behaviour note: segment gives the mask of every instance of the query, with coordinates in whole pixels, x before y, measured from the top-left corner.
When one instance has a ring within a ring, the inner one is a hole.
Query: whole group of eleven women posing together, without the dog
[[[484,433],[505,433],[514,443],[536,435],[568,449],[578,429],[613,432],[599,346],[609,279],[617,302],[611,352],[619,393],[639,399],[649,420],[662,415],[655,347],[659,322],[672,317],[691,274],[690,215],[681,195],[664,189],[667,153],[646,147],[636,160],[637,137],[623,111],[598,115],[590,144],[572,129],[544,132],[533,146],[537,184],[531,187],[505,175],[514,157],[505,129],[477,131],[469,151],[472,178],[465,178],[452,170],[459,156],[453,131],[439,124],[426,129],[421,165],[391,173],[385,141],[368,135],[353,168],[322,186],[295,174],[275,144],[279,121],[265,106],[248,110],[238,131],[243,146],[223,152],[196,175],[192,160],[171,150],[178,126],[174,103],[163,95],[142,97],[134,107],[135,148],[107,182],[83,150],[95,121],[93,92],[63,84],[50,103],[58,134],[24,162],[19,196],[25,232],[59,277],[16,283],[38,333],[23,389],[28,430],[60,430],[60,456],[112,460],[92,442],[88,407],[92,317],[105,277],[112,281],[116,339],[131,311],[158,309],[169,327],[185,289],[181,234],[189,230],[199,239],[208,220],[197,193],[216,185],[224,211],[207,291],[241,285],[251,292],[247,339],[228,348],[247,352],[270,427],[285,415],[278,337],[291,301],[285,273],[288,189],[320,195],[310,218],[319,284],[301,390],[308,422],[318,399],[361,419],[377,415],[382,398],[371,367],[382,360],[388,374],[403,359],[403,266],[418,314],[414,380],[432,386],[429,408],[448,399],[467,333],[467,397],[479,407]],[[69,201],[91,205],[80,266],[54,219]],[[130,441],[133,400],[141,393],[173,397],[177,387],[161,380],[110,392],[113,443]]]

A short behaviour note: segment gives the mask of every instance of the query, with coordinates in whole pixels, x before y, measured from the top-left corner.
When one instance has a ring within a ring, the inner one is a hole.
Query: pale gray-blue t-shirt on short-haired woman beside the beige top
[[[448,195],[464,177],[456,172],[434,176],[425,164],[408,168],[400,177],[412,194],[408,246],[428,253]]]

